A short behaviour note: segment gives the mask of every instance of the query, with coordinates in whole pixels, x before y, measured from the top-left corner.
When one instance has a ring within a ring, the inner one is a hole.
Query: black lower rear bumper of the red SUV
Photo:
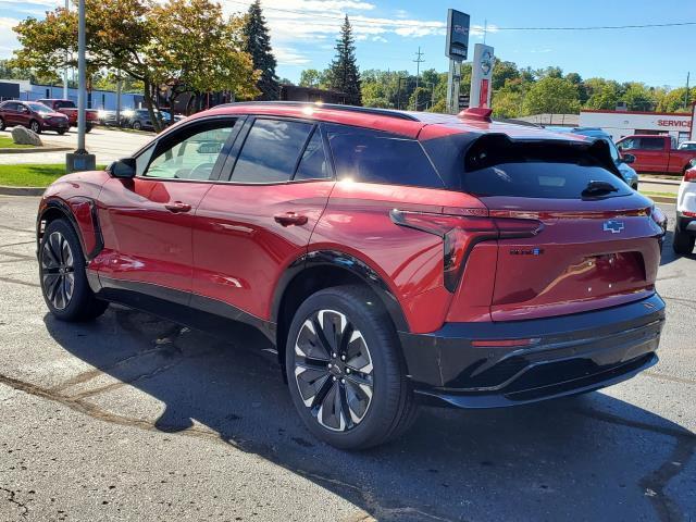
[[[664,302],[647,299],[594,312],[498,323],[448,323],[400,333],[410,378],[426,402],[499,408],[591,391],[657,362]],[[495,345],[534,339],[531,346]]]

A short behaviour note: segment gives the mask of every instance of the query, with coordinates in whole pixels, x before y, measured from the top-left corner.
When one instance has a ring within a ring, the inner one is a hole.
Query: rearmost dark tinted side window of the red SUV
[[[385,134],[330,134],[338,179],[443,188],[421,144]]]

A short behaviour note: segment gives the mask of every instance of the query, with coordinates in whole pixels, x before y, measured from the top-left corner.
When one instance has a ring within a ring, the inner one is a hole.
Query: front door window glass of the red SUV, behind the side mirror
[[[162,149],[156,150],[145,176],[209,179],[233,127],[234,122],[225,122],[221,127],[182,129],[177,136],[174,136],[174,144],[170,142]]]

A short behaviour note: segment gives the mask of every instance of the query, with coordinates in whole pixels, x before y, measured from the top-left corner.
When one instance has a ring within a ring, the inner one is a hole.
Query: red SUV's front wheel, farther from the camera
[[[39,278],[44,300],[61,321],[90,321],[108,302],[99,300],[89,287],[79,238],[66,220],[49,223],[39,245]]]

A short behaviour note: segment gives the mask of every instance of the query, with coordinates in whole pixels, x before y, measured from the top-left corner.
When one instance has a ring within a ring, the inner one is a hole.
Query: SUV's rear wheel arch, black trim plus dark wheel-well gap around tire
[[[384,306],[397,332],[410,332],[398,299],[368,263],[336,250],[312,251],[288,266],[273,297],[271,320],[277,325],[276,349],[283,368],[293,310],[297,310],[315,291],[346,284],[360,284],[370,288]]]

